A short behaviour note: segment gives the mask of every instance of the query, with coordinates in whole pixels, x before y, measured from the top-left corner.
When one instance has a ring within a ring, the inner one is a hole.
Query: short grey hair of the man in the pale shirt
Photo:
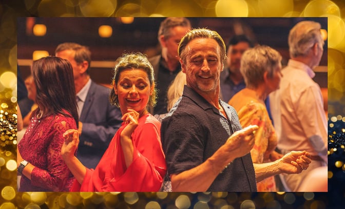
[[[321,37],[321,25],[314,21],[301,21],[297,23],[289,33],[290,56],[304,56],[315,43],[323,46]]]

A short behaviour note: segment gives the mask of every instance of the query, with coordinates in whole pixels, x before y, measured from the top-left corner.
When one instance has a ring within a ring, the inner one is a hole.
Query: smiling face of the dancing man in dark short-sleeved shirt
[[[187,85],[197,92],[214,93],[223,70],[218,43],[214,39],[198,38],[190,41],[185,50],[186,62],[181,66]]]

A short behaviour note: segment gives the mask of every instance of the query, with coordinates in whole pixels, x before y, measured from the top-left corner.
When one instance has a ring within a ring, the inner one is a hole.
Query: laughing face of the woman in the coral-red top
[[[141,117],[147,113],[146,105],[154,92],[154,86],[150,85],[145,70],[125,69],[120,72],[114,91],[118,95],[122,115],[127,109],[133,109],[139,112]]]

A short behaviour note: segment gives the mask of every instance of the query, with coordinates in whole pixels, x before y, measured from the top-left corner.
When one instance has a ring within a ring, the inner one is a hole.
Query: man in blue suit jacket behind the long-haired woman
[[[110,89],[91,80],[88,47],[62,43],[56,47],[55,55],[68,60],[73,67],[80,136],[77,157],[86,167],[95,168],[121,126],[121,111],[110,104]]]

